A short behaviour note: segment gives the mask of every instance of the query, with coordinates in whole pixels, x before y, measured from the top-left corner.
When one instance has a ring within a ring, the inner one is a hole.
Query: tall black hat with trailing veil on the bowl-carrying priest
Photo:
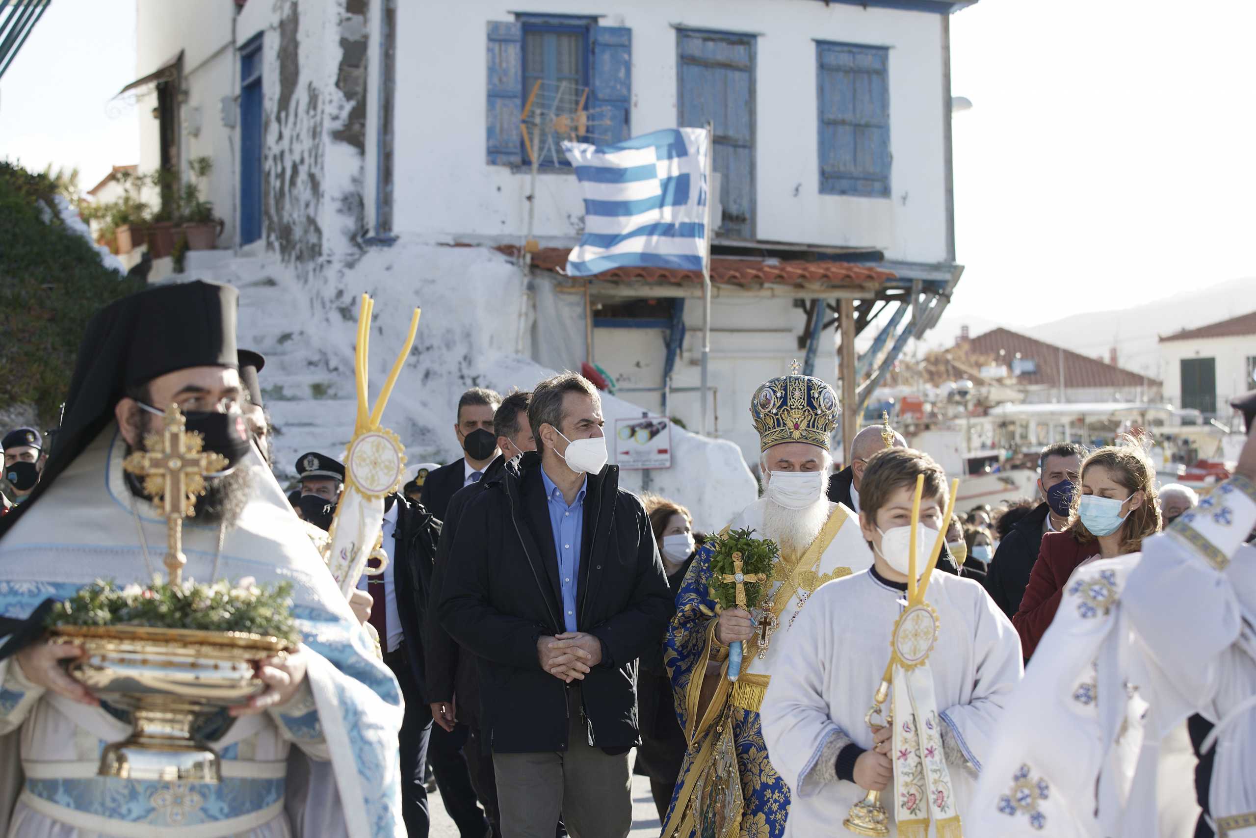
[[[239,297],[230,285],[201,280],[154,285],[114,300],[88,320],[57,447],[30,498],[0,519],[0,536],[113,421],[113,408],[128,388],[188,367],[237,367]]]

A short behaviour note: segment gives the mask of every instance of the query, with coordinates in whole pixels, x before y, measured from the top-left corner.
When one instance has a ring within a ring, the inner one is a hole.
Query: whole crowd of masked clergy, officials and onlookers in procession
[[[284,503],[265,359],[236,347],[234,305],[205,283],[116,304],[87,330],[54,450],[30,427],[3,437],[8,834],[423,838],[428,768],[462,838],[627,835],[634,771],[669,838],[1256,824],[1256,442],[1203,499],[1159,486],[1120,438],[1048,446],[1036,498],[955,510],[943,470],[888,425],[838,469],[835,393],[791,372],[750,405],[762,496],[703,534],[693,499],[620,486],[584,377],[474,387],[450,406],[461,456],[387,495],[387,563],[334,602],[309,548],[345,467],[303,454]],[[148,560],[152,498],[121,462],[170,401],[231,464],[197,501],[188,570],[278,563],[324,621],[259,670],[268,691],[232,711],[251,726],[206,734],[232,765],[217,786],[83,768],[126,712],[65,675],[82,650],[44,636],[34,598]],[[1242,407],[1251,421],[1256,400]],[[83,526],[58,523],[69,505]],[[726,554],[751,536],[770,573]]]

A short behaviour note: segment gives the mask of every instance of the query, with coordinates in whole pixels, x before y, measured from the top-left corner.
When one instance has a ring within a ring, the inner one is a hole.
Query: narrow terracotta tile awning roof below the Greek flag
[[[502,253],[514,255],[517,248],[502,245]],[[563,248],[541,248],[533,254],[533,265],[541,270],[566,268],[570,251]],[[875,290],[896,274],[870,265],[857,265],[843,261],[779,261],[761,259],[720,259],[711,260],[711,283],[740,288],[791,286],[805,289],[859,288]],[[693,270],[672,268],[617,268],[598,274],[599,281],[643,283],[663,285],[668,283],[701,283],[702,274]]]

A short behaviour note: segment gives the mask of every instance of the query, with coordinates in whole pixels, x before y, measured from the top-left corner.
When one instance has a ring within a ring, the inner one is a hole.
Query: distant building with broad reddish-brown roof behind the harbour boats
[[[1011,329],[992,329],[967,340],[961,338],[955,349],[948,351],[958,352],[981,364],[977,372],[982,378],[1016,391],[1030,405],[1161,398],[1162,384],[1156,378]],[[1115,357],[1115,349],[1109,357]],[[957,377],[971,377],[967,369],[956,372]]]

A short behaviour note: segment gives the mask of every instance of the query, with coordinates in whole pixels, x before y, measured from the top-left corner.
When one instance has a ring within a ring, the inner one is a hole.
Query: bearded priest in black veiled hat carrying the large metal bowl
[[[149,288],[99,312],[43,477],[0,519],[0,832],[10,837],[404,834],[397,681],[368,653],[251,443],[235,324],[236,290],[201,281]],[[170,405],[227,462],[185,523],[185,579],[289,580],[303,636],[298,652],[259,665],[266,691],[211,736],[222,758],[216,784],[98,776],[99,749],[129,725],[60,666],[82,648],[43,632],[53,601],[94,579],[139,583],[161,570],[166,521],[122,462]],[[310,760],[332,770],[311,771]]]

